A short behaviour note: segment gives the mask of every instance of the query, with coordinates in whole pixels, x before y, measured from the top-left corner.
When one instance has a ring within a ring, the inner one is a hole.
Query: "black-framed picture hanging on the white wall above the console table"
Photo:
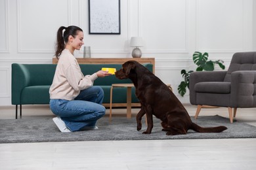
[[[89,0],[89,34],[121,34],[120,0]]]

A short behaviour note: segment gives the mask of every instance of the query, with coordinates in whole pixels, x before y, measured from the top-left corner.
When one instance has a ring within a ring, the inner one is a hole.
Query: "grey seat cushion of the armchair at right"
[[[230,82],[198,82],[194,90],[199,93],[230,93]]]

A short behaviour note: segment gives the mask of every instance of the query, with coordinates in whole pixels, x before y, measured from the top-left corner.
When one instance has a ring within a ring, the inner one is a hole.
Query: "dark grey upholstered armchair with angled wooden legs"
[[[190,103],[198,105],[195,118],[202,105],[228,107],[232,123],[237,108],[256,107],[256,52],[235,53],[228,71],[191,73],[189,90]]]

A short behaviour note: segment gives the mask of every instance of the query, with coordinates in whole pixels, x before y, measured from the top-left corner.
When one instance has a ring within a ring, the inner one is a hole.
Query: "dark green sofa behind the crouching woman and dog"
[[[143,64],[152,71],[151,63]],[[80,64],[84,75],[92,75],[102,67],[113,67],[117,70],[121,64]],[[16,118],[18,105],[20,105],[20,116],[22,116],[22,105],[49,104],[49,88],[53,82],[56,64],[20,64],[12,63],[12,105],[16,105]],[[116,76],[97,78],[94,86],[100,86],[104,90],[103,105],[110,103],[110,88],[112,84],[131,83],[131,80],[119,80]],[[113,106],[121,106],[126,103],[126,88],[113,89]],[[139,103],[135,96],[135,88],[132,89],[132,103]]]

